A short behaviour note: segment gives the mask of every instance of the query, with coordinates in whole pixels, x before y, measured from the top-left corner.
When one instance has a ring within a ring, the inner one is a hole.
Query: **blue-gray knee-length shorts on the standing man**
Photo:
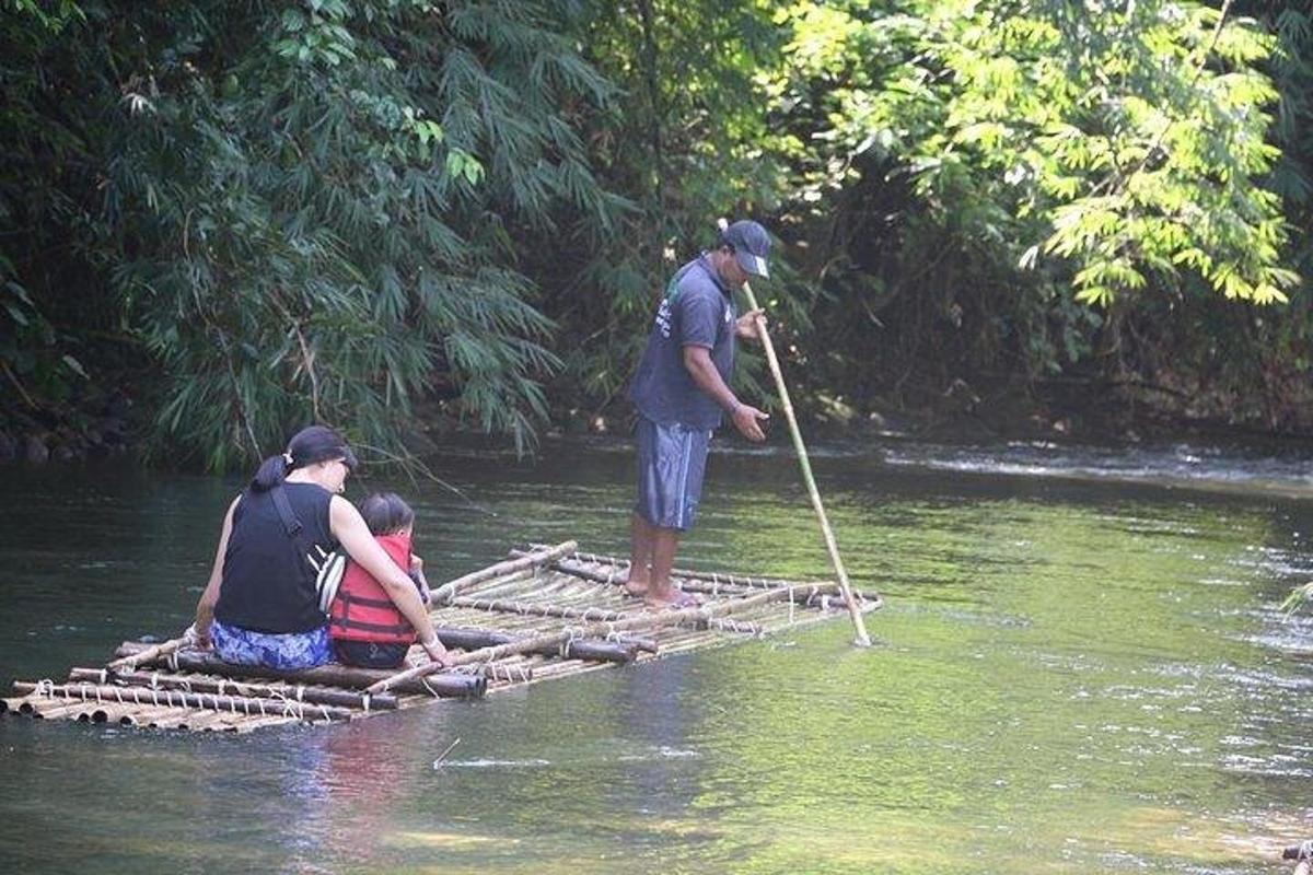
[[[638,502],[634,510],[662,529],[687,531],[697,516],[706,474],[708,429],[638,417]]]

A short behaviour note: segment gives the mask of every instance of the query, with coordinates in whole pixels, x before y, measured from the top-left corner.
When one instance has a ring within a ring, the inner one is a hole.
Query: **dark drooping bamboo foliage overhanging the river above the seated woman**
[[[160,445],[226,467],[234,436],[255,454],[309,418],[395,443],[440,375],[453,416],[532,441],[559,361],[496,228],[608,209],[562,118],[605,88],[563,21],[479,3],[197,14],[201,63],[155,77],[159,119],[117,131],[110,180],[143,241],[119,285],[169,374]],[[168,16],[134,16],[123,66],[177,56]]]

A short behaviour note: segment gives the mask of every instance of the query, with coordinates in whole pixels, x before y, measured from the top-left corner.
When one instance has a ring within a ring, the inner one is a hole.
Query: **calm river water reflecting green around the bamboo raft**
[[[826,572],[783,450],[710,462],[681,563]],[[5,868],[1276,872],[1313,837],[1297,453],[832,446],[847,619],[336,728],[0,720]],[[456,449],[429,579],[515,543],[624,552],[632,451]],[[239,480],[0,471],[0,682],[186,626]],[[362,497],[355,484],[352,496]],[[453,744],[450,753],[436,762]]]

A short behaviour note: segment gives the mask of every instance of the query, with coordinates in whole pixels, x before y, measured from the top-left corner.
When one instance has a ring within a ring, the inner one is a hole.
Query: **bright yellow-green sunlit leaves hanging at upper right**
[[[1296,277],[1278,269],[1287,231],[1262,188],[1279,155],[1262,68],[1274,43],[1234,17],[1213,42],[1217,24],[1195,3],[800,4],[790,51],[807,75],[848,59],[835,143],[880,136],[935,210],[997,205],[1002,224],[968,232],[1025,249],[1031,266],[1040,245],[1082,300],[1171,285],[1179,269],[1228,298],[1284,300]],[[897,52],[864,75],[877,41]]]

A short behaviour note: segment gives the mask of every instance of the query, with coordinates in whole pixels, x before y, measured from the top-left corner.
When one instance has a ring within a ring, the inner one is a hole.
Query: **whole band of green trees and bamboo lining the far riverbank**
[[[758,291],[815,418],[1313,429],[1306,4],[0,22],[0,453],[131,432],[221,470],[310,420],[386,451],[596,428],[722,214],[779,237]]]

